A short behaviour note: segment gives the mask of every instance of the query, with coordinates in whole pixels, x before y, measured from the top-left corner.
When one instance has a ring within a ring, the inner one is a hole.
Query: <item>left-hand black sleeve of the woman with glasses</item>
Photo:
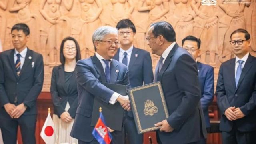
[[[58,71],[58,67],[55,67],[52,70],[52,80],[51,80],[50,91],[51,91],[52,103],[53,103],[54,110],[57,112],[56,114],[58,115],[58,117],[60,117],[60,115],[63,112],[65,112],[65,110],[62,107],[62,105],[60,103],[60,97],[58,96],[58,90],[57,90],[57,71]]]

